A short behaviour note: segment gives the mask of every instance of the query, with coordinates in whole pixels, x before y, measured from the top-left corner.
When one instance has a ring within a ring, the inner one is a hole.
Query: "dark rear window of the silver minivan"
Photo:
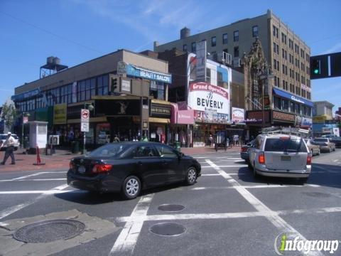
[[[266,139],[266,142],[265,142],[264,151],[307,152],[307,148],[303,142],[303,139],[268,138]]]

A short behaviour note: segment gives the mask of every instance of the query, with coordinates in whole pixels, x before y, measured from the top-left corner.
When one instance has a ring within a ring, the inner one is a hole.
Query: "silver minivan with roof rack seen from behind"
[[[312,155],[301,137],[261,134],[249,151],[254,177],[301,178],[304,182],[310,175]]]

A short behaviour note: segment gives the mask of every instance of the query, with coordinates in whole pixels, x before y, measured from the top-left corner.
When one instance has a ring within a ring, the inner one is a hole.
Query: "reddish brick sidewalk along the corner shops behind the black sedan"
[[[227,149],[226,152],[240,151],[240,146],[232,146],[232,148]],[[195,148],[181,148],[181,152],[187,155],[193,154],[214,154],[216,153],[214,147],[202,146]],[[219,148],[218,152],[224,152],[223,148]],[[5,151],[0,151],[0,161],[4,159]],[[11,158],[7,159],[5,165],[0,165],[0,172],[2,171],[48,171],[55,169],[67,169],[69,168],[70,159],[80,156],[80,154],[71,154],[70,151],[56,149],[55,154],[52,156],[45,154],[40,154],[40,161],[45,163],[45,165],[36,166],[33,165],[37,161],[37,156],[35,154],[23,154],[22,149],[14,151],[14,156],[16,158],[16,164],[11,164]]]

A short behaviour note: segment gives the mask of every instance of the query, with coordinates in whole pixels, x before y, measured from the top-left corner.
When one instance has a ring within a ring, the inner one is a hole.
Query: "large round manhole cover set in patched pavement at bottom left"
[[[85,224],[77,220],[45,220],[19,228],[13,238],[22,242],[53,242],[80,235]]]

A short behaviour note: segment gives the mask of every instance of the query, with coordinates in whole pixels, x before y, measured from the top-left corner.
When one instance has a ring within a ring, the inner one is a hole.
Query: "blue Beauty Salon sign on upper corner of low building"
[[[120,67],[122,68],[122,67]],[[148,80],[154,80],[158,82],[166,82],[171,83],[172,82],[172,75],[160,73],[152,70],[146,70],[144,68],[138,68],[131,64],[125,65],[126,75],[131,75],[138,78],[145,78]],[[123,70],[120,70],[122,73]]]

